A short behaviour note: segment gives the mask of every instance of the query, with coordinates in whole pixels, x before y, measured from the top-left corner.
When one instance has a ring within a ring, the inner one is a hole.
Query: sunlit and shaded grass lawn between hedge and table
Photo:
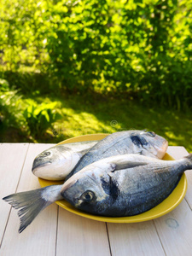
[[[44,137],[30,137],[19,126],[7,127],[1,132],[0,142],[59,143],[84,134],[147,129],[166,137],[169,145],[183,146],[192,152],[192,119],[189,112],[102,96],[34,96],[33,100],[38,103],[57,102],[62,119],[55,122]],[[25,98],[22,101],[24,109]]]

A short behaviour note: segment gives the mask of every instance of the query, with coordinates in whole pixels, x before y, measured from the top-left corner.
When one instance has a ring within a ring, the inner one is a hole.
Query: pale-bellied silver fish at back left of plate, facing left
[[[46,149],[34,159],[32,173],[47,180],[64,180],[97,142],[67,143]]]

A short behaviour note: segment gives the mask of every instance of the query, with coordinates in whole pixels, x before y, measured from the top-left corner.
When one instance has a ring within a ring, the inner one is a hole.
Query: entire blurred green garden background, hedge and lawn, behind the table
[[[192,0],[0,4],[1,142],[147,128],[192,150]]]

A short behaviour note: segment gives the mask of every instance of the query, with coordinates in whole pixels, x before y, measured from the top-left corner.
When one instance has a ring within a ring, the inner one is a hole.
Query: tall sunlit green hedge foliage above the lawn
[[[191,8],[192,0],[2,0],[2,77],[25,91],[191,107]]]

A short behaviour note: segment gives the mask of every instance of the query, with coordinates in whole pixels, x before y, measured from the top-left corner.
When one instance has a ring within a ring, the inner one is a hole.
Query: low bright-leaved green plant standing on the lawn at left
[[[57,120],[61,114],[55,111],[57,102],[42,103],[38,105],[32,100],[26,101],[28,107],[23,113],[30,133],[33,137],[44,136],[45,131]]]

